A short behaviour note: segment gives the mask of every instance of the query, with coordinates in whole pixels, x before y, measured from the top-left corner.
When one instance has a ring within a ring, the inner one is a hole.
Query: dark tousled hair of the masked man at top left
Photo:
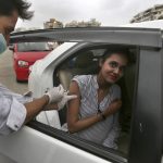
[[[0,0],[0,15],[12,15],[13,11],[18,12],[22,20],[30,20],[34,15],[33,11],[28,11],[32,4],[25,0]]]

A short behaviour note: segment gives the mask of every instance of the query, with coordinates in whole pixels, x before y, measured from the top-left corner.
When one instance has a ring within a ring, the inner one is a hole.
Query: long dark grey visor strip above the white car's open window
[[[11,34],[11,42],[20,41],[111,42],[162,48],[160,28],[78,27],[51,28]]]

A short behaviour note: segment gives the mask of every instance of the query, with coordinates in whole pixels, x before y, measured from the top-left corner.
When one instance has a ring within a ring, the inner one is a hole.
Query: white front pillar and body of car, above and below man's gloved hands
[[[48,89],[53,87],[53,80],[52,78],[49,78],[49,76],[53,76],[52,75],[53,70],[55,68],[58,62],[61,62],[65,58],[64,53],[76,45],[77,45],[76,42],[63,43],[57,49],[54,49],[49,55],[47,55],[42,60],[37,61],[30,67],[32,72],[30,72],[29,79],[28,79],[28,90],[33,91],[34,98],[39,98]],[[63,59],[61,60],[62,55],[63,55]],[[57,61],[57,62],[53,64],[53,61]],[[39,79],[39,83],[38,83],[38,79]],[[39,90],[38,90],[38,87],[39,87]],[[59,120],[58,111],[41,112],[37,116],[37,121],[48,124],[50,126],[55,126],[55,128],[61,129],[61,123]]]

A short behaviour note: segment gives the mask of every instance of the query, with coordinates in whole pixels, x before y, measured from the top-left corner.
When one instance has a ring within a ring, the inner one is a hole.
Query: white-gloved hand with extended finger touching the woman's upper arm
[[[64,91],[62,100],[60,102],[58,102],[58,111],[60,111],[61,109],[63,109],[67,101],[77,98],[76,95],[68,96],[67,93],[68,93],[67,91]]]

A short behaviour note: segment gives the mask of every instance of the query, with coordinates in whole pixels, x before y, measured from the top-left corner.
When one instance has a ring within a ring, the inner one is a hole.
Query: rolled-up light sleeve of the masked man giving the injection
[[[0,95],[0,135],[18,130],[24,124],[26,109],[13,97]]]

